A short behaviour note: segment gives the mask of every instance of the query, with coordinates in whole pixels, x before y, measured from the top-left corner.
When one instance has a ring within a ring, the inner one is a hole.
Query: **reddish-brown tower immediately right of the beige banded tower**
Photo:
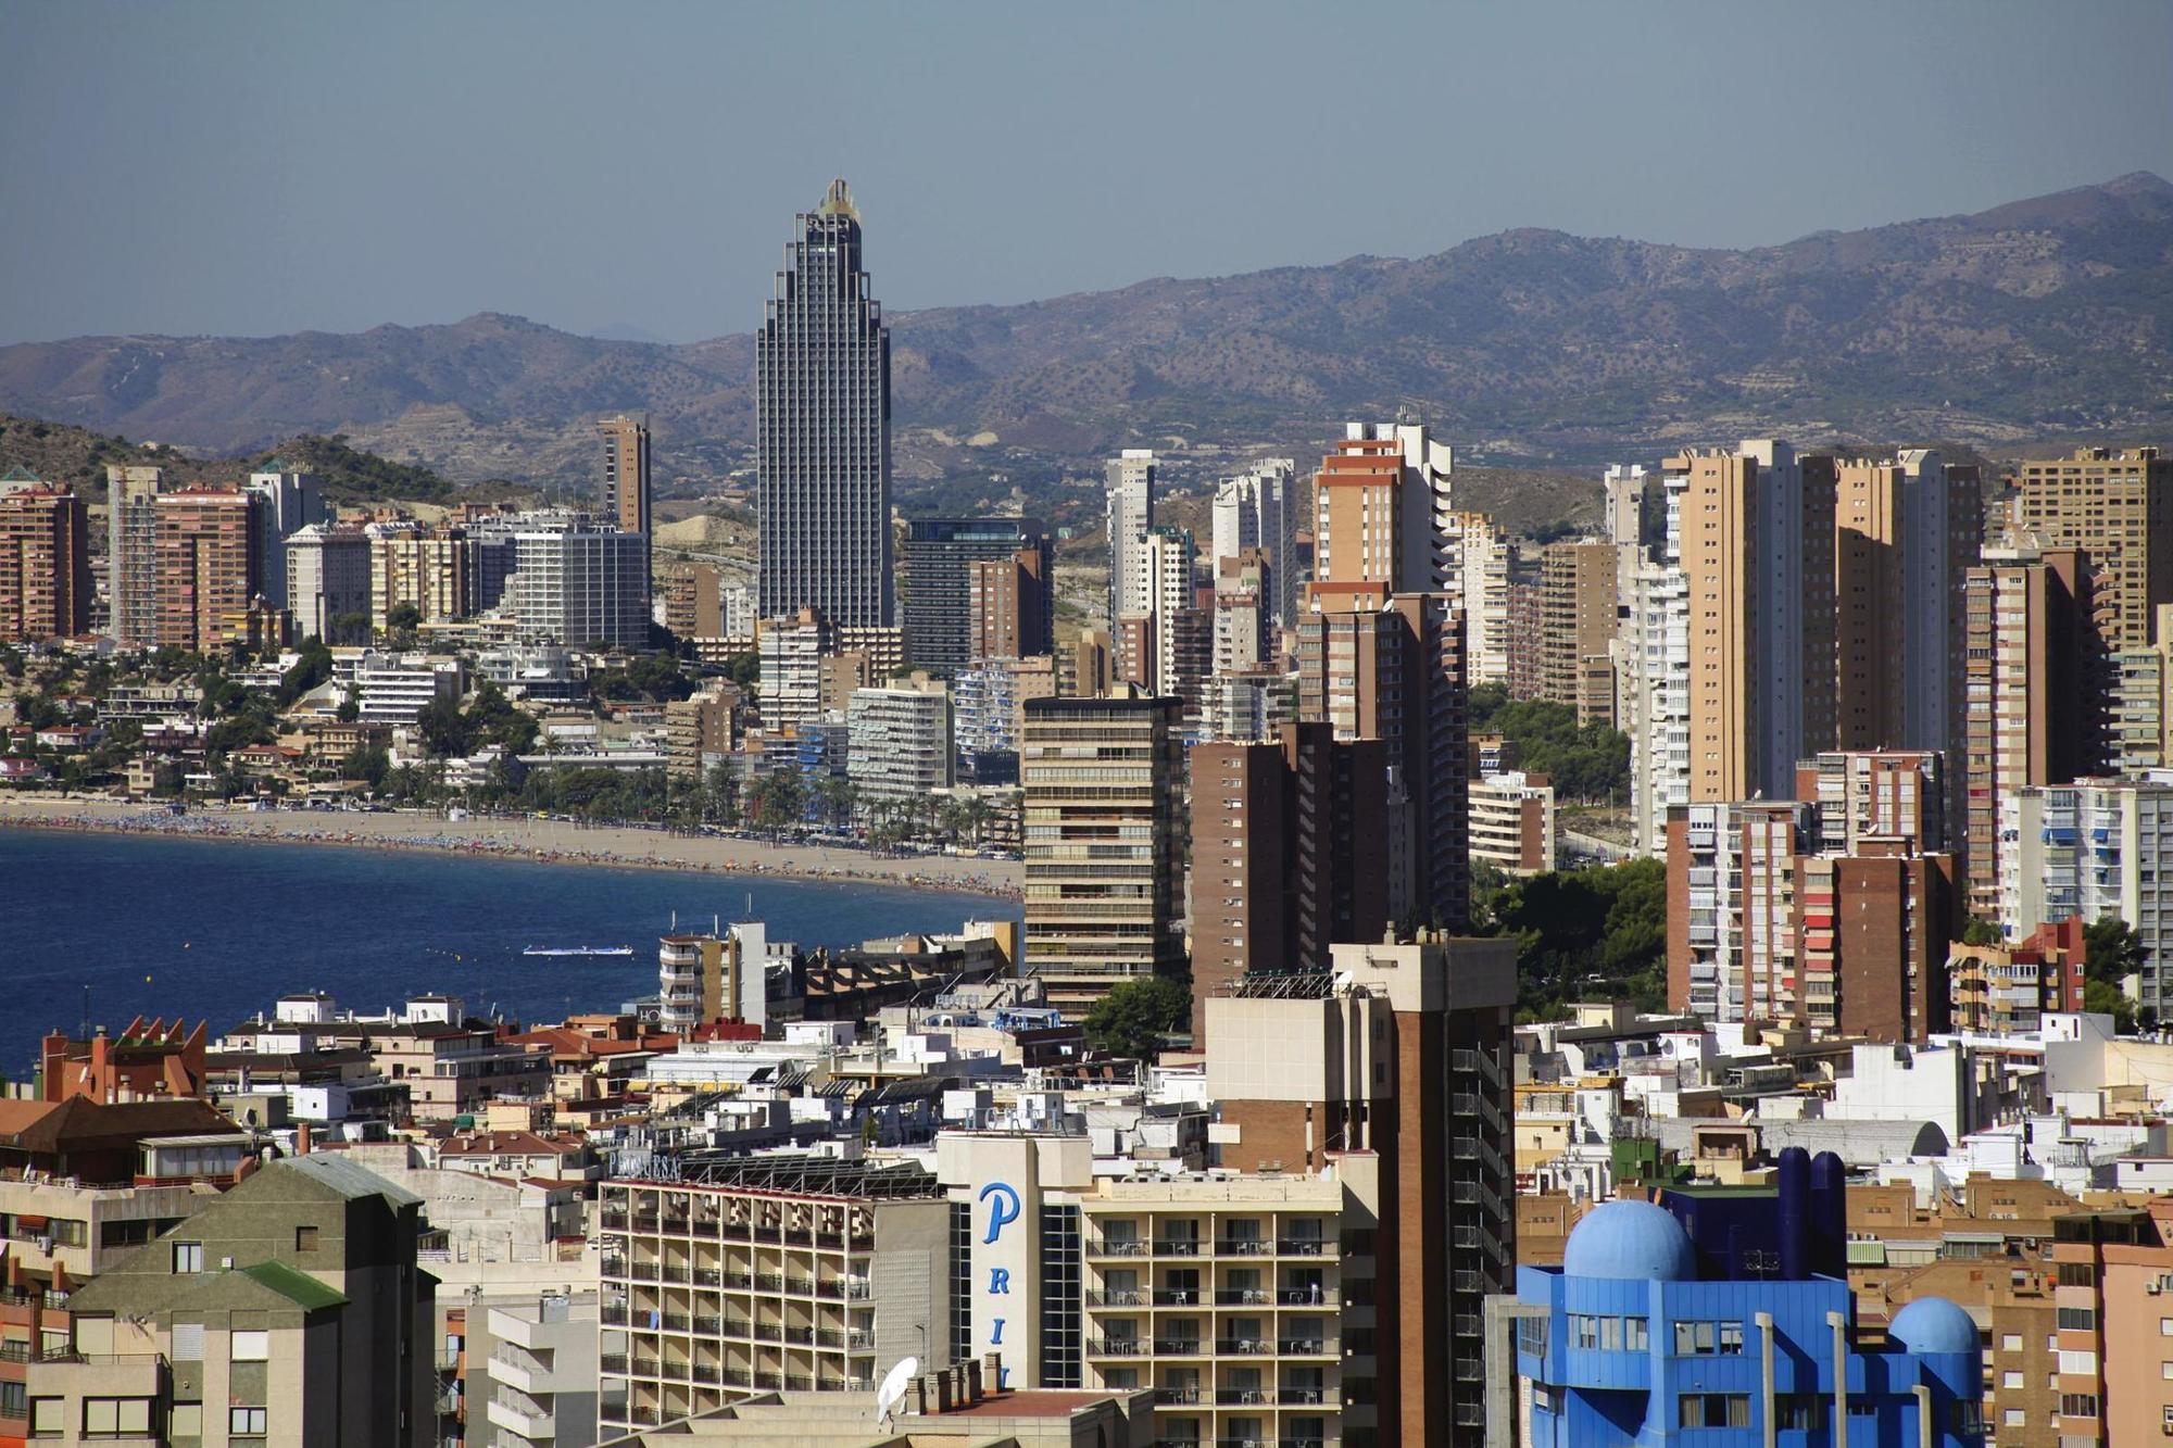
[[[1389,763],[1378,739],[1284,724],[1193,748],[1193,1033],[1236,976],[1328,970],[1389,924]]]

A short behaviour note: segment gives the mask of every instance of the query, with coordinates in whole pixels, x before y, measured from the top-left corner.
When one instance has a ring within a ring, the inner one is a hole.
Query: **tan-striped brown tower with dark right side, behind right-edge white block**
[[[1988,548],[1962,581],[1962,859],[1967,909],[1999,918],[1999,807],[2064,785],[2099,757],[2103,657],[2084,552]]]

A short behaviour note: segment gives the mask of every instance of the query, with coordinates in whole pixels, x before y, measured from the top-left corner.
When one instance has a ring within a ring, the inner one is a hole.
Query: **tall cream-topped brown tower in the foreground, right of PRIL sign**
[[[1517,1272],[1510,1041],[1517,948],[1502,939],[1336,944],[1349,989],[1245,981],[1213,998],[1208,1094],[1223,1165],[1380,1168],[1373,1283],[1376,1431],[1365,1441],[1486,1441],[1486,1294]],[[1389,1270],[1393,1265],[1393,1272]],[[1352,1287],[1345,1283],[1345,1291]],[[1367,1370],[1349,1344],[1345,1381]],[[1345,1409],[1345,1441],[1358,1435]]]

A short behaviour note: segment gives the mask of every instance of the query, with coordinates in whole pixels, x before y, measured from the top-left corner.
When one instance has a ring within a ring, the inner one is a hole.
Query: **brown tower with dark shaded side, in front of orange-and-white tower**
[[[1465,620],[1443,594],[1310,613],[1297,626],[1297,717],[1389,759],[1389,918],[1462,928],[1471,911]]]

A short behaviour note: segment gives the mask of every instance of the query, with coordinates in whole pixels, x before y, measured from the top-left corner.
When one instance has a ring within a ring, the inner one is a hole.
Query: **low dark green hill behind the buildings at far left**
[[[74,483],[89,498],[104,498],[106,467],[163,467],[183,485],[237,483],[269,463],[285,463],[317,474],[324,496],[335,504],[356,502],[485,502],[493,498],[528,498],[535,489],[502,480],[461,487],[430,467],[393,463],[354,448],[346,437],[289,437],[278,448],[239,457],[191,457],[172,446],[133,444],[120,435],[37,417],[0,413],[0,472],[22,467],[50,483]]]

